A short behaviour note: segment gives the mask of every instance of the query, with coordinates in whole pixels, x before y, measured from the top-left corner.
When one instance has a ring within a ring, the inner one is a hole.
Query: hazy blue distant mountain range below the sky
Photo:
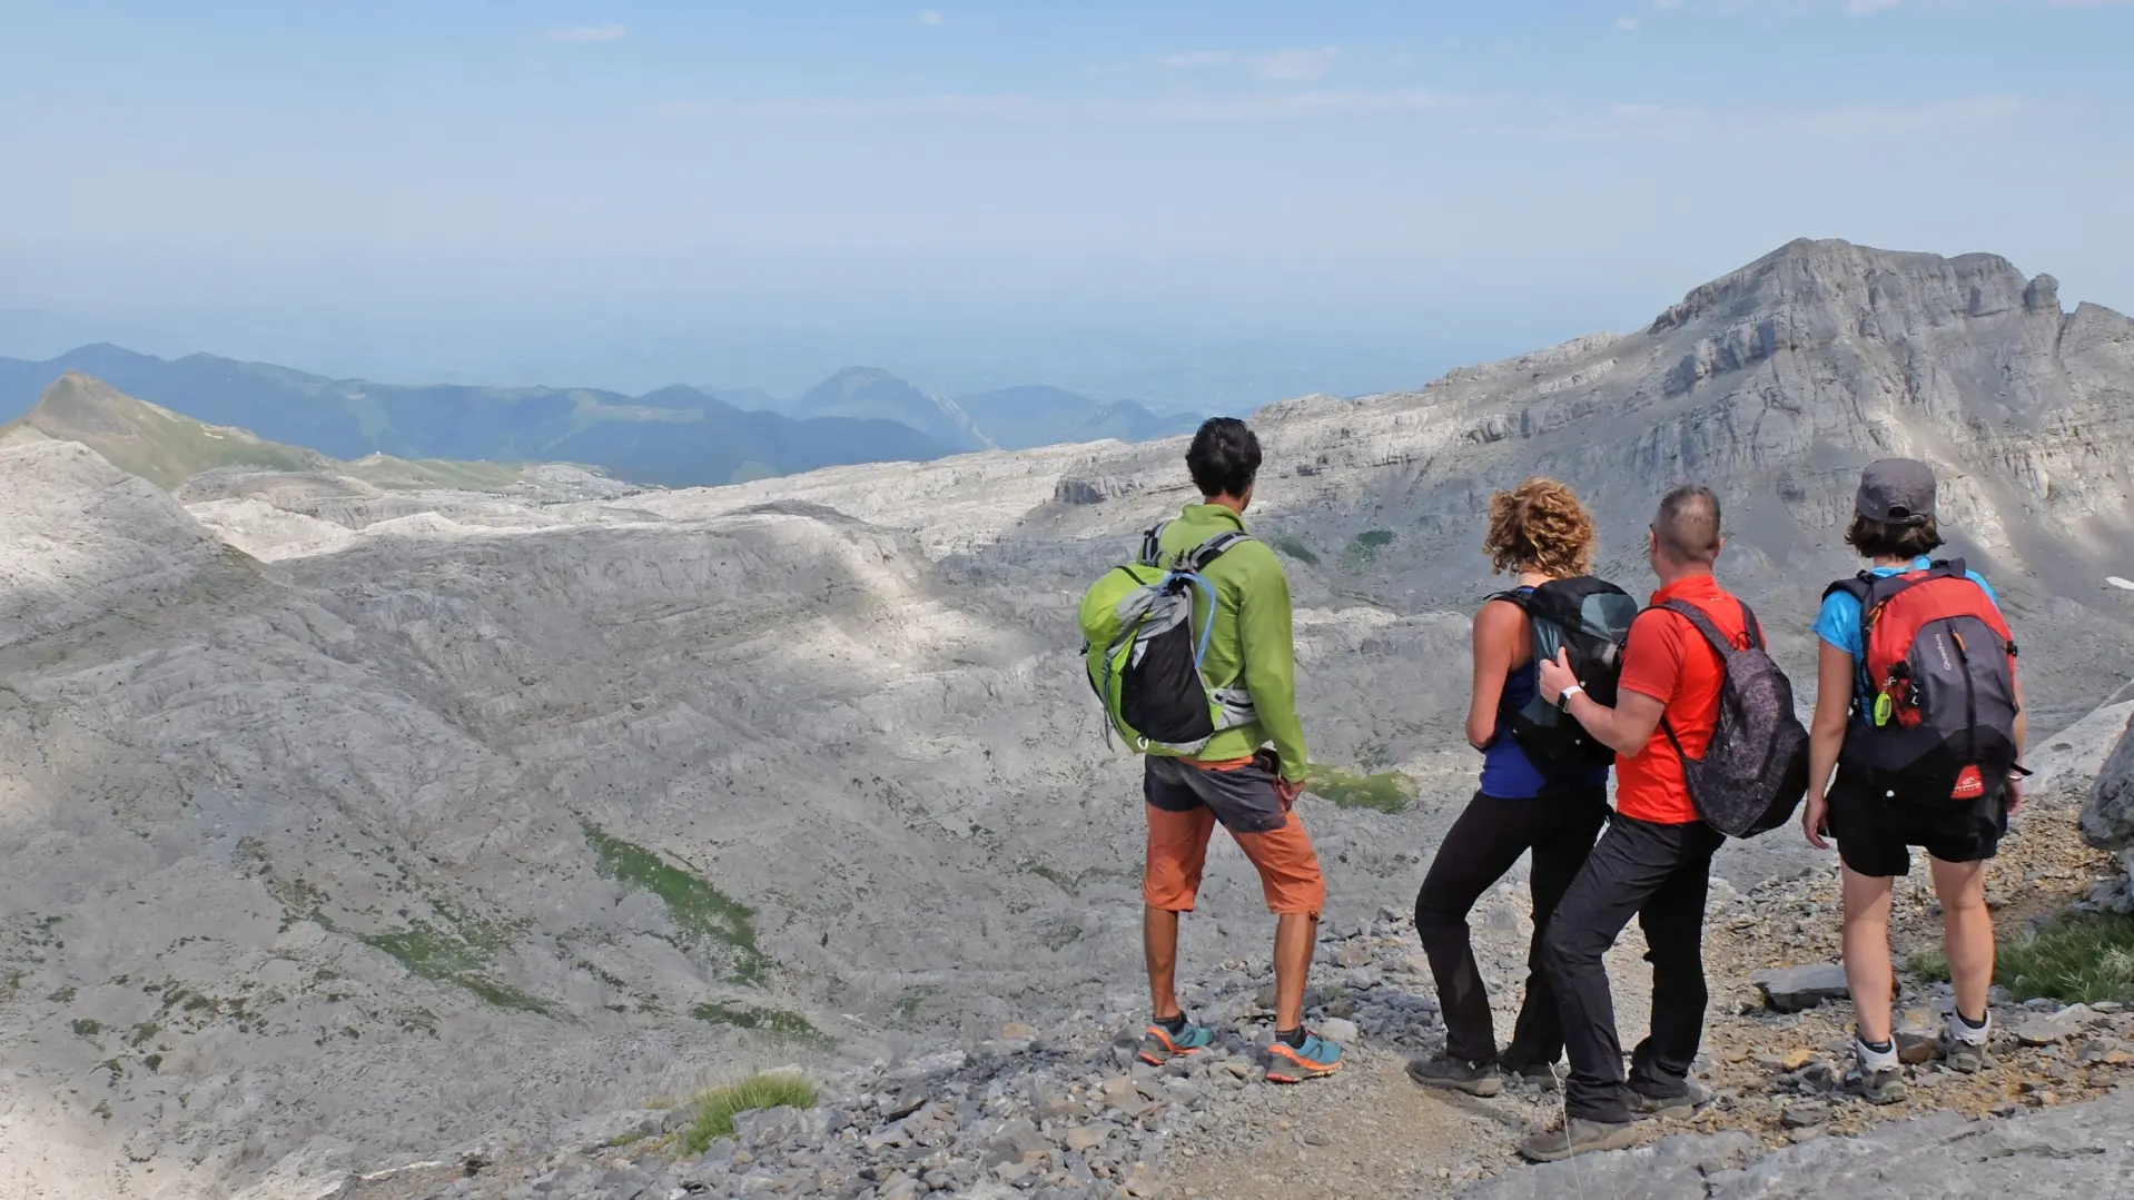
[[[213,354],[156,358],[109,343],[36,362],[0,358],[0,420],[28,411],[68,371],[201,422],[331,458],[583,463],[670,488],[984,448],[1142,441],[1197,424],[1058,388],[1007,388],[958,403],[871,367],[839,371],[781,403],[758,390],[719,394],[689,386],[625,396],[598,388],[373,384]]]

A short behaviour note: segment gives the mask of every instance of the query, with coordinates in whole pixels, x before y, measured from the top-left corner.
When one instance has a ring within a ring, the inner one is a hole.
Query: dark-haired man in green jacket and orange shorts
[[[1187,505],[1163,526],[1165,561],[1210,537],[1244,531],[1259,475],[1259,439],[1242,420],[1201,424],[1187,450],[1187,469],[1204,503]],[[1244,688],[1255,718],[1216,733],[1193,759],[1150,755],[1148,861],[1142,876],[1142,948],[1154,1021],[1142,1038],[1142,1059],[1163,1064],[1214,1040],[1178,1006],[1178,914],[1193,910],[1208,838],[1221,821],[1259,870],[1274,925],[1274,1044],[1268,1079],[1300,1083],[1334,1074],[1340,1047],[1304,1027],[1304,978],[1319,940],[1325,878],[1319,855],[1293,812],[1304,791],[1304,725],[1297,720],[1295,644],[1289,633],[1289,578],[1261,541],[1240,541],[1204,571],[1214,586],[1214,629],[1201,674],[1212,688]],[[1195,595],[1193,627],[1206,629],[1208,601]]]

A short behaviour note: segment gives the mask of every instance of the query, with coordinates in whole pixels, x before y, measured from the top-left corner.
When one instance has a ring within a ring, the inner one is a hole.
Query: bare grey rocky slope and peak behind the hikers
[[[1801,678],[1857,467],[1933,458],[2057,727],[2134,667],[2096,593],[2134,533],[2130,392],[2134,326],[2004,260],[1797,243],[1641,333],[1263,411],[1315,757],[1423,795],[1304,801],[1329,925],[1404,908],[1468,787],[1490,488],[1577,484],[1635,586],[1654,494],[1705,477]],[[1187,499],[1180,450],[380,520],[0,448],[0,1191],[209,1196],[1133,1012],[1137,789],[1067,614]],[[1743,891],[1799,855],[1767,842],[1729,855]],[[1227,846],[1187,938],[1263,955]]]

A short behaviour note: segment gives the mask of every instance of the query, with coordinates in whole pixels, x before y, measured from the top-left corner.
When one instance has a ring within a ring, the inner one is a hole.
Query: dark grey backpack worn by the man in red
[[[1741,627],[1748,631],[1748,648],[1741,648],[1701,607],[1686,601],[1660,607],[1694,625],[1726,671],[1720,718],[1703,759],[1692,759],[1667,718],[1660,718],[1669,744],[1682,757],[1682,778],[1697,814],[1731,838],[1754,838],[1793,821],[1807,795],[1807,729],[1793,712],[1793,680],[1763,648],[1756,614],[1741,605]]]

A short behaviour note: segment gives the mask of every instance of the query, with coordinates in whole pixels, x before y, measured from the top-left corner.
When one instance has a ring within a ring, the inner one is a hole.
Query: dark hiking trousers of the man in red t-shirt
[[[1705,895],[1711,855],[1724,840],[1703,821],[1656,825],[1609,816],[1607,833],[1556,906],[1541,961],[1564,1019],[1571,1055],[1564,1108],[1573,1117],[1628,1121],[1630,1089],[1682,1096],[1705,1036]],[[1645,931],[1652,963],[1652,1032],[1630,1055],[1624,1081],[1603,955],[1630,917]]]

